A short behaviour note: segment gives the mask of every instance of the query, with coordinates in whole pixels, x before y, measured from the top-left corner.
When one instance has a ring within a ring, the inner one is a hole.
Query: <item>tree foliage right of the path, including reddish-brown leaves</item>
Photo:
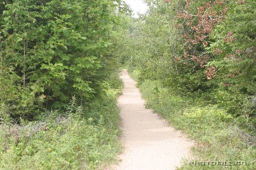
[[[254,0],[146,2],[149,11],[133,21],[127,41],[138,84],[159,80],[173,94],[233,116],[249,107],[255,116]]]

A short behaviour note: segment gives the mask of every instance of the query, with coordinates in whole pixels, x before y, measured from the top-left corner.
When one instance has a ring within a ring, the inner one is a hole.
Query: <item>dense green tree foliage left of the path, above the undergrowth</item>
[[[118,36],[127,27],[120,25],[128,11],[123,5],[119,0],[1,1],[0,84],[6,87],[0,103],[10,108],[10,117],[30,120],[44,110],[65,110],[72,96],[84,105],[100,95],[102,81],[118,67],[116,46],[123,42]]]

